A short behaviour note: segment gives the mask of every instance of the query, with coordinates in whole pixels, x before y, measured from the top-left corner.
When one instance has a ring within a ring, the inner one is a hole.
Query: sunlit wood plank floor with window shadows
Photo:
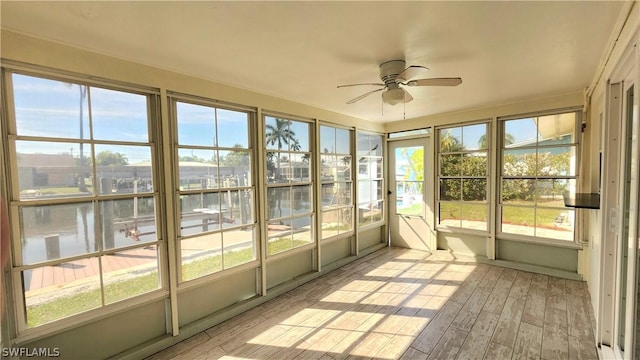
[[[586,283],[387,248],[149,360],[597,359]]]

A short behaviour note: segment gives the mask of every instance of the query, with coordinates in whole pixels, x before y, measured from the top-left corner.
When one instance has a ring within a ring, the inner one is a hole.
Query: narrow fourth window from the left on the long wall
[[[353,231],[351,131],[320,126],[322,239]]]

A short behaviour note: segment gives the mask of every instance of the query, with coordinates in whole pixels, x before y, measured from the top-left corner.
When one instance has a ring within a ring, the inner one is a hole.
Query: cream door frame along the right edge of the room
[[[634,39],[636,39],[634,37]],[[602,253],[599,282],[599,306],[596,342],[602,345],[603,355],[616,359],[632,359],[635,348],[636,315],[636,258],[638,251],[638,50],[632,42],[607,84],[607,119],[602,124],[601,139],[603,159],[602,199]],[[629,91],[633,90],[633,103],[629,103]],[[627,125],[630,121],[630,139]],[[629,140],[630,143],[629,143]],[[630,168],[627,170],[627,146],[631,147]],[[629,183],[626,188],[626,183]],[[625,189],[626,188],[626,189]],[[626,191],[625,191],[626,190]],[[624,200],[629,200],[629,230],[623,237]],[[623,268],[623,246],[628,251]],[[626,305],[620,307],[623,275],[626,273]],[[624,312],[622,311],[624,310]],[[624,315],[623,315],[624,314]],[[624,341],[620,341],[620,325],[624,323]],[[624,351],[623,351],[624,349]]]

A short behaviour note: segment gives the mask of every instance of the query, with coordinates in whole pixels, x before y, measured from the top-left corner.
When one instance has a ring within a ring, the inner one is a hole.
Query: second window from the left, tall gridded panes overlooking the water
[[[174,101],[182,281],[256,260],[249,111]]]

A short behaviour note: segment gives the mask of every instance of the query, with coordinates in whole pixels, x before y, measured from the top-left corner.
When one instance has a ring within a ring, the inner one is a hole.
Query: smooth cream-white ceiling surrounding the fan
[[[570,2],[13,2],[4,29],[371,121],[582,90],[623,8]],[[382,106],[381,62],[462,77]]]

